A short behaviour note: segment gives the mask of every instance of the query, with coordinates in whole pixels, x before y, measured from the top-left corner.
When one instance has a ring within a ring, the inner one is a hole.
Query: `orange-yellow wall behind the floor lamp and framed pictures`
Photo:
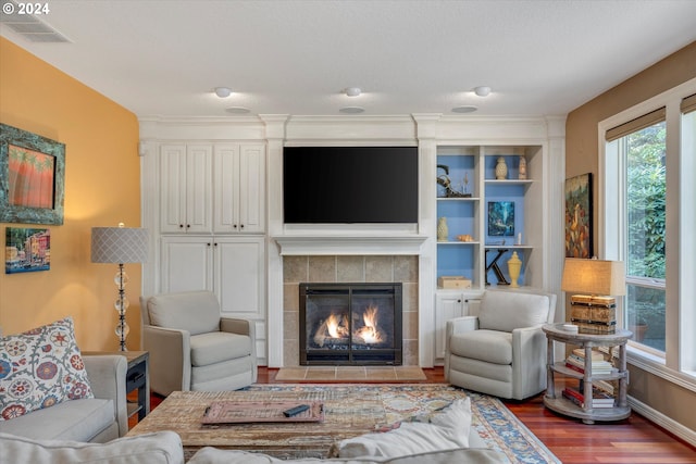
[[[137,117],[0,37],[0,122],[65,143],[64,224],[41,226],[51,230],[51,268],[0,269],[2,334],[72,315],[80,349],[117,349],[117,266],[92,264],[89,242],[94,226],[140,225]],[[0,224],[2,242],[8,226],[35,225]],[[128,348],[137,349],[140,266],[126,264],[126,272]]]

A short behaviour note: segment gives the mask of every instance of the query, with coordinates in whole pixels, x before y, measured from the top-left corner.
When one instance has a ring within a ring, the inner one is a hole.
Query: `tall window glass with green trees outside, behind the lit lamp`
[[[633,340],[664,353],[664,229],[666,229],[664,109],[607,131],[607,150],[621,166],[618,183],[624,190],[620,205],[626,266],[626,300],[622,321]]]

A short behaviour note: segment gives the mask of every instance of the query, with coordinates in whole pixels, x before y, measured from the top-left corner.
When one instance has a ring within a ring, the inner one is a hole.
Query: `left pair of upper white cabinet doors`
[[[160,231],[212,231],[212,162],[210,145],[163,145],[160,149]]]

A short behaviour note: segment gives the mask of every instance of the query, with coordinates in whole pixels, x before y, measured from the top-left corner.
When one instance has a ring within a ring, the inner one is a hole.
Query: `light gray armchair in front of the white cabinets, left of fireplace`
[[[256,383],[254,326],[221,317],[210,291],[141,298],[142,347],[150,352],[150,388],[172,391],[237,390]]]

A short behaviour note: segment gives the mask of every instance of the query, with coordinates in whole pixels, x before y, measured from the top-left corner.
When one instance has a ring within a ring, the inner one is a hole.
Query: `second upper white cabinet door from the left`
[[[213,149],[194,145],[186,149],[186,231],[212,231]]]

